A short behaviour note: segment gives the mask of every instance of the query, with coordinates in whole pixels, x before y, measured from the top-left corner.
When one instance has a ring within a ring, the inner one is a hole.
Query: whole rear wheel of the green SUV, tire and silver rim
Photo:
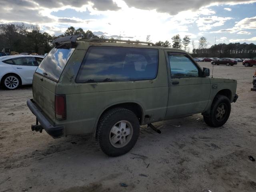
[[[100,118],[96,142],[108,156],[120,156],[133,148],[139,134],[140,123],[137,116],[125,108],[114,108]]]

